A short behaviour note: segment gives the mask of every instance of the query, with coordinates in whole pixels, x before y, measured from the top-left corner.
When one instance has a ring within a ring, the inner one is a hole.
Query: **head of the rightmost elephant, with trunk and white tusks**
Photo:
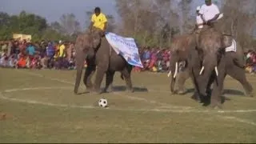
[[[218,63],[223,54],[223,37],[214,28],[203,30],[198,38],[198,54],[202,62],[199,72],[199,92],[206,95],[206,86],[210,80],[212,73],[218,77]]]

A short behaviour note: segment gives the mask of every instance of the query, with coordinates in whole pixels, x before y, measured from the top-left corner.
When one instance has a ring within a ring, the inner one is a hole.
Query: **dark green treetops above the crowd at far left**
[[[46,18],[22,11],[18,15],[0,12],[0,40],[8,40],[13,34],[31,34],[32,41],[74,40],[74,36],[63,35],[55,27],[48,26]]]

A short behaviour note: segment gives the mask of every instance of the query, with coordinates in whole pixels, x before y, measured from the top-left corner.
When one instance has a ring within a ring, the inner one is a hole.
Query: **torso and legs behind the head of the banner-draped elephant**
[[[106,87],[104,91],[106,91],[109,86],[112,88],[115,71],[121,72],[122,78],[126,81],[126,89],[133,92],[130,78],[132,66],[128,64],[121,55],[116,54],[116,52],[110,47],[106,38],[102,38],[102,46],[96,53],[96,65],[97,73],[94,82],[94,89],[97,92],[100,90],[104,74],[106,74]]]

